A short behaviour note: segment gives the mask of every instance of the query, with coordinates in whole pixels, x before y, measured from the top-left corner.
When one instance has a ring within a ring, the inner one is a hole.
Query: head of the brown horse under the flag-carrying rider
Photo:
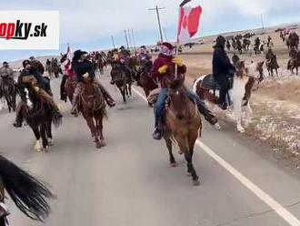
[[[172,81],[168,87],[168,104],[175,117],[180,120],[185,118],[186,115],[186,101],[188,101],[188,98],[182,80]]]

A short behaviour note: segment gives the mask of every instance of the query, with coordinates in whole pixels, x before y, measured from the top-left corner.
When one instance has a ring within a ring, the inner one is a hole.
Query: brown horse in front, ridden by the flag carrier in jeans
[[[175,167],[172,153],[172,141],[178,144],[180,154],[185,154],[187,172],[192,176],[194,185],[199,185],[199,178],[193,165],[195,140],[201,135],[201,118],[195,103],[187,97],[186,88],[181,80],[171,82],[168,89],[167,108],[164,120],[164,139],[169,150],[170,164]]]

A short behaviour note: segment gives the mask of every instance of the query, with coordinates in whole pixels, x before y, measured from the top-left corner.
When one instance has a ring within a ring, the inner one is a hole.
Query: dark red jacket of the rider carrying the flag
[[[175,79],[175,64],[172,62],[174,58],[174,56],[164,56],[160,54],[155,59],[153,67],[151,68],[151,77],[155,80],[158,78],[161,83],[161,87],[168,87],[169,82]],[[168,66],[168,69],[166,70],[165,74],[161,75],[158,69],[165,65]],[[178,67],[177,72],[177,78],[185,79],[185,65],[183,65],[182,67]]]

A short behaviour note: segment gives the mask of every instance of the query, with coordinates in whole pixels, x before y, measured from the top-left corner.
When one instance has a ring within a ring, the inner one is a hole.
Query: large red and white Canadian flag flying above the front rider
[[[188,42],[198,31],[202,7],[180,7],[177,43]]]

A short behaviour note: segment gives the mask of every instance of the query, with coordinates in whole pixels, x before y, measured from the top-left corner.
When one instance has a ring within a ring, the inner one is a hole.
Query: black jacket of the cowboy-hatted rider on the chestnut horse
[[[88,60],[73,60],[72,69],[75,72],[77,82],[83,82],[83,75],[85,75],[85,73],[88,73],[92,79],[95,77],[93,64]]]

